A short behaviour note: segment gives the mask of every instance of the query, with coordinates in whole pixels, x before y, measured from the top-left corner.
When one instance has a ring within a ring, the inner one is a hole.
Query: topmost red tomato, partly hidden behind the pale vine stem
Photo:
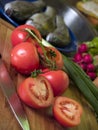
[[[11,42],[13,46],[20,44],[21,42],[33,42],[35,45],[38,45],[37,41],[31,37],[27,31],[25,31],[25,28],[31,29],[36,34],[36,36],[41,39],[41,34],[35,27],[24,24],[16,27],[13,30],[11,34]]]

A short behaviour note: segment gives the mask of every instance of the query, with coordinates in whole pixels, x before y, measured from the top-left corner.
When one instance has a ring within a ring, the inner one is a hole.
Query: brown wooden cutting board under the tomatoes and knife
[[[10,65],[10,51],[12,48],[10,35],[13,29],[12,25],[0,19],[0,53],[15,86],[17,86],[24,77],[17,74]],[[64,128],[53,118],[50,110],[35,110],[23,104],[31,130],[98,130],[98,123],[91,106],[74,84],[70,84],[64,96],[73,98],[82,105],[83,115],[80,125],[74,128]],[[0,88],[0,130],[6,129],[21,130]]]

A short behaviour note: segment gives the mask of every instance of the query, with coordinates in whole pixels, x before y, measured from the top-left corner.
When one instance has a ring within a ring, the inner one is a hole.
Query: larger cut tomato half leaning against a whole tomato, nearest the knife
[[[21,100],[33,108],[45,108],[53,103],[53,91],[43,76],[26,78],[18,87]]]

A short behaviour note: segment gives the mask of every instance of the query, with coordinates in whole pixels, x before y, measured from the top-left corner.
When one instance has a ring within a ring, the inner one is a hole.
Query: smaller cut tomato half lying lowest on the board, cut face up
[[[59,96],[54,101],[54,117],[65,127],[74,127],[79,125],[82,112],[83,110],[81,105],[73,99]]]

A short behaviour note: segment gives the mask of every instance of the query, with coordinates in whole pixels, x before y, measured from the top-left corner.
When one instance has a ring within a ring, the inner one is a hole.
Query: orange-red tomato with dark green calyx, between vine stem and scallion
[[[46,55],[47,57],[54,63],[56,63],[56,68],[57,69],[62,69],[64,66],[63,58],[61,53],[54,47],[45,47],[46,50]],[[39,47],[38,52],[40,56],[43,58],[44,54],[42,49]]]

